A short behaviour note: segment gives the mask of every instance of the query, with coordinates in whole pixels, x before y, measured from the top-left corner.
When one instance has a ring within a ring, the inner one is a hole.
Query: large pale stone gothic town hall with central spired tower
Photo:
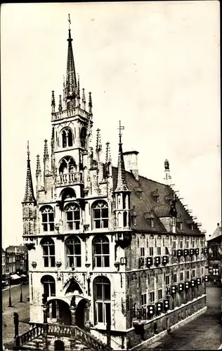
[[[204,310],[204,233],[171,187],[167,160],[165,183],[139,175],[120,122],[118,166],[99,129],[93,150],[92,96],[86,103],[80,92],[70,29],[67,42],[63,96],[55,108],[52,92],[51,150],[45,140],[35,192],[27,150],[30,321],[58,324],[55,339],[60,333],[65,343],[63,324],[103,343],[110,329],[113,349],[131,348]]]

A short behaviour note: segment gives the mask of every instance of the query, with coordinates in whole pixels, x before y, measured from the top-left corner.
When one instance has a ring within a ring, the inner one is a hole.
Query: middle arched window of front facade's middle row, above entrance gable
[[[81,267],[81,242],[79,238],[66,239],[65,246],[67,267]]]

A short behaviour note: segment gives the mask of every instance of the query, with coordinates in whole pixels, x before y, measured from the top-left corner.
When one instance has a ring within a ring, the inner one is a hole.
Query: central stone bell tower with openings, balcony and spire
[[[89,138],[87,135],[93,125],[91,93],[89,93],[88,111],[86,111],[84,89],[80,103],[80,86],[75,72],[70,28],[67,41],[67,72],[63,83],[63,101],[59,96],[58,111],[55,111],[54,91],[51,102],[52,164],[55,165],[54,184],[58,200],[67,185],[72,187],[77,198],[82,197],[84,187],[83,155],[88,150]]]

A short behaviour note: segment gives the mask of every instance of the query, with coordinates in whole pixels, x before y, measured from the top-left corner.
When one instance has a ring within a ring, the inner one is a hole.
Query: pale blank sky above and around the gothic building
[[[172,183],[202,229],[221,223],[219,1],[1,5],[2,245],[22,243],[27,140],[36,155],[51,138],[51,91],[63,93],[68,13],[80,87],[93,98],[117,165],[137,150],[139,173]]]

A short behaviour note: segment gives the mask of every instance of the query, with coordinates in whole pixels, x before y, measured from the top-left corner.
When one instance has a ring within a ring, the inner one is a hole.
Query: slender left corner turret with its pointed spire
[[[27,173],[25,183],[25,196],[22,201],[23,235],[34,234],[34,219],[36,217],[37,201],[34,197],[32,173],[30,165],[30,146],[27,142]]]

